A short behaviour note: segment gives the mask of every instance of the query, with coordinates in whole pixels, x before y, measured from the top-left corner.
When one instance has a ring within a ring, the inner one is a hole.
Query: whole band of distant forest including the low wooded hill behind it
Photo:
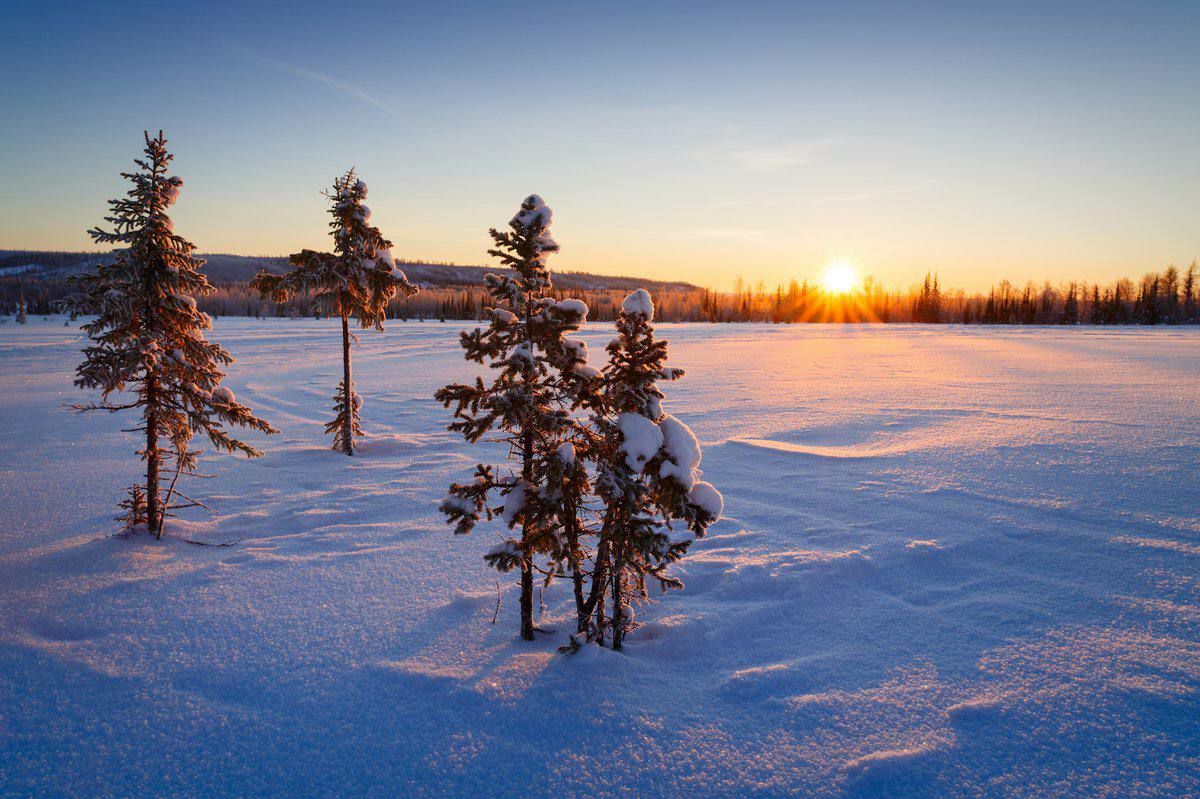
[[[56,312],[67,293],[67,274],[90,268],[104,256],[95,253],[34,253],[0,257],[0,314],[13,316],[25,299],[28,313]],[[55,257],[58,259],[55,260]],[[246,286],[252,271],[282,269],[284,259],[252,259],[212,256],[210,280],[216,290],[198,299],[199,307],[216,317],[311,317],[307,298],[286,304],[260,299]],[[479,319],[488,305],[479,266],[454,264],[402,264],[421,287],[412,299],[395,301],[394,319]],[[238,280],[229,280],[236,277]],[[986,293],[946,290],[936,275],[908,290],[889,290],[868,280],[848,295],[830,295],[817,284],[792,281],[787,286],[748,287],[737,281],[733,292],[713,292],[688,283],[593,276],[577,272],[554,275],[557,296],[575,296],[588,304],[590,319],[611,320],[631,288],[654,295],[656,317],[662,322],[767,322],[767,323],[922,323],[1003,325],[1158,325],[1200,324],[1198,266],[1168,266],[1140,280],[1108,284],[1070,282],[1051,286],[1002,281]],[[226,278],[226,280],[222,280]]]

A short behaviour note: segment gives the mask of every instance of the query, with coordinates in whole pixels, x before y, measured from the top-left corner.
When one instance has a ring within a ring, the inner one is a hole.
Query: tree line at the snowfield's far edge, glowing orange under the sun
[[[406,262],[397,258],[396,263],[403,266]],[[0,277],[0,314],[16,314],[23,299],[31,316],[58,313],[67,294],[65,282]],[[587,302],[593,322],[616,320],[626,294],[625,289],[570,292]],[[568,293],[551,289],[550,295],[562,299]],[[482,286],[421,286],[419,295],[389,300],[386,313],[400,320],[480,320],[490,301]],[[323,313],[306,293],[272,301],[247,282],[217,283],[197,302],[214,317],[317,318]],[[773,289],[739,283],[732,292],[672,287],[655,293],[655,310],[660,322],[1194,325],[1200,324],[1200,268],[1193,262],[1186,270],[1172,265],[1140,280],[1110,283],[1016,286],[1006,280],[985,293],[943,289],[932,274],[907,290],[887,289],[868,278],[862,289],[846,296],[829,295],[808,281]]]

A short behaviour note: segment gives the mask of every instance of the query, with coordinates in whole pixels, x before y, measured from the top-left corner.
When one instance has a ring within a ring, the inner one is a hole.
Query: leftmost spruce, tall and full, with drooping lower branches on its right
[[[204,262],[192,254],[196,246],[174,232],[168,215],[184,185],[167,175],[172,158],[162,132],[156,138],[148,132],[137,172],[121,175],[132,187],[108,203],[112,228],[89,232],[97,244],[116,246],[115,258],[72,277],[76,293],[66,300],[72,314],[96,314],[83,325],[92,343],[76,370],[76,385],[98,389],[102,398],[74,407],[140,411],[134,429],[145,433],[139,452],[145,483],[132,487],[121,518],[131,527],[144,524],[157,537],[173,507],[197,504],[184,497],[184,505],[173,505],[174,497],[182,497],[176,492],[180,474],[191,474],[197,463],[199,450],[190,446],[196,433],[206,434],[217,449],[256,457],[262,452],[224,426],[276,432],[221,385],[222,367],[233,358],[204,337],[212,324],[197,310],[196,298],[212,287],[199,272]],[[174,476],[163,492],[161,480],[172,465]]]

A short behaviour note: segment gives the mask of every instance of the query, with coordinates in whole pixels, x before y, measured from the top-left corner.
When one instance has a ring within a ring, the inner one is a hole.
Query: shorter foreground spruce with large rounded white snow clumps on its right
[[[654,304],[644,289],[622,304],[593,420],[595,489],[604,504],[593,581],[612,600],[613,649],[622,648],[635,600],[647,596],[647,578],[664,590],[680,587],[666,567],[724,507],[721,494],[700,479],[696,435],[662,410],[658,383],[679,379],[683,370],[666,366],[667,342],[654,337],[653,319]],[[672,530],[672,521],[688,529]],[[602,601],[596,614],[595,632],[602,639]]]

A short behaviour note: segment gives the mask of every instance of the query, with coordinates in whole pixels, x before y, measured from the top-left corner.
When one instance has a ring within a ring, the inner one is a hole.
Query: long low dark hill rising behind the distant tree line
[[[110,258],[110,253],[53,252],[0,250],[0,278],[19,277],[23,281],[59,282],[95,268]],[[216,284],[246,283],[259,270],[283,272],[286,257],[230,256],[224,253],[200,254],[205,259],[204,274]],[[482,286],[488,272],[503,272],[497,266],[460,266],[456,264],[428,264],[398,262],[408,278],[424,287]],[[589,275],[587,272],[554,272],[554,284],[576,290],[632,290],[644,288],[650,292],[691,290],[690,283],[652,281],[640,277]]]

